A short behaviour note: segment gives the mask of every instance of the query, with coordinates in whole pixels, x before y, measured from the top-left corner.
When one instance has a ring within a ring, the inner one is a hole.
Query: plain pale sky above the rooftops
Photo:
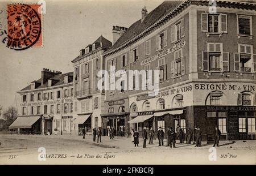
[[[0,105],[4,110],[9,106],[16,107],[16,100],[20,98],[16,91],[29,85],[31,81],[38,80],[43,68],[63,73],[73,71],[71,61],[79,55],[80,49],[91,44],[100,35],[113,41],[113,25],[129,27],[141,18],[144,6],[150,12],[162,2],[163,0],[46,0],[42,47],[11,50],[2,43],[3,36],[0,36]],[[0,11],[5,10],[6,5],[7,2],[0,0]],[[6,21],[6,12],[2,12],[0,24],[6,26]]]

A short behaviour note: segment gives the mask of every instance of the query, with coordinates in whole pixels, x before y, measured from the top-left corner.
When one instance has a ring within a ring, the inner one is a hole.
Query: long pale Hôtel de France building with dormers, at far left
[[[43,68],[39,80],[18,91],[19,117],[9,128],[32,134],[70,134],[73,114],[73,72]]]

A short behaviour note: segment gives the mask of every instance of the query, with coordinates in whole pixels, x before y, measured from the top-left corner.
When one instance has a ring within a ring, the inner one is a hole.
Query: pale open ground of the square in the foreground
[[[255,140],[220,141],[215,148],[205,141],[202,147],[176,141],[175,149],[159,147],[158,140],[142,148],[142,139],[134,147],[125,137],[102,136],[97,143],[91,135],[0,135],[0,142],[0,164],[256,164]],[[46,161],[38,159],[42,147],[50,157]],[[211,154],[216,160],[210,160]]]

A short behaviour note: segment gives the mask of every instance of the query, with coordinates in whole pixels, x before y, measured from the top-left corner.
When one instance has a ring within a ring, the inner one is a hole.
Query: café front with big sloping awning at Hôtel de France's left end
[[[18,129],[18,134],[41,134],[41,115],[17,117],[9,129]]]

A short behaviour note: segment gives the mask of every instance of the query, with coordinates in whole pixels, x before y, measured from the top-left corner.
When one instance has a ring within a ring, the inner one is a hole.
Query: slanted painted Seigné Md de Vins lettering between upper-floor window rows
[[[161,57],[164,57],[165,55],[170,54],[170,53],[172,53],[172,52],[174,52],[174,51],[176,51],[176,50],[182,48],[183,46],[185,46],[185,44],[186,44],[185,41],[181,41],[181,42],[179,42],[179,44],[176,44],[176,45],[172,46],[171,48],[166,49],[166,50],[164,50],[164,51],[158,53],[157,55],[154,55],[153,57],[150,57],[150,58],[148,58],[148,59],[145,59],[144,61],[141,62],[141,65],[142,65],[142,66],[143,66],[143,65],[146,65],[147,63],[150,63],[150,62],[152,62],[152,61],[155,61],[155,59],[159,59],[159,58],[161,58]]]

